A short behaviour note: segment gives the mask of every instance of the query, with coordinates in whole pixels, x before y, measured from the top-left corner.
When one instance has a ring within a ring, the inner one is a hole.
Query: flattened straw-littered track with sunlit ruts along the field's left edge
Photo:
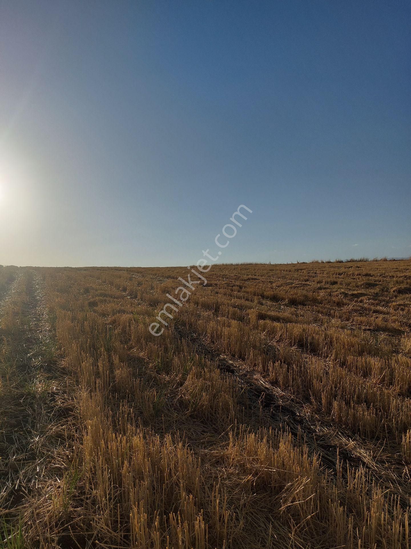
[[[18,273],[1,312],[0,512],[13,535],[36,491],[65,467],[70,442],[62,418],[72,410],[38,273]]]

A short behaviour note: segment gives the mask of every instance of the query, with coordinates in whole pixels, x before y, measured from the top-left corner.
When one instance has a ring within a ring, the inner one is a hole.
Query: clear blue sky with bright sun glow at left
[[[0,2],[0,263],[411,255],[409,2]]]

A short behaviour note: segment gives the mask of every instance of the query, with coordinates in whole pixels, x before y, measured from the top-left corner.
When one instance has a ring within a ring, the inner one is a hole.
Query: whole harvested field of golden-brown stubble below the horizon
[[[0,268],[2,546],[408,547],[410,267]]]

